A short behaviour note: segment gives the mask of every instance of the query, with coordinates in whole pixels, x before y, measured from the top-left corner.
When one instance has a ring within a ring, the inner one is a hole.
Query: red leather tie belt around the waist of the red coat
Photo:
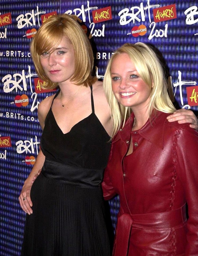
[[[139,228],[165,229],[175,227],[186,221],[186,204],[164,213],[146,213],[130,215],[120,208],[118,214],[116,247],[113,256],[127,256],[128,241],[132,226]]]

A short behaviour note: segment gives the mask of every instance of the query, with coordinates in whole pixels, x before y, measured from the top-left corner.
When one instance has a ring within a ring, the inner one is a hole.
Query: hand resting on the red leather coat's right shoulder
[[[167,117],[169,122],[190,123],[190,127],[198,130],[198,119],[189,109],[178,109]]]

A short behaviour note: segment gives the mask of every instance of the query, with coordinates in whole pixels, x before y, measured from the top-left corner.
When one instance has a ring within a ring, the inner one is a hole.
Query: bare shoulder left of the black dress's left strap
[[[42,129],[44,128],[45,118],[48,114],[54,96],[55,94],[43,99],[38,105],[38,119]]]

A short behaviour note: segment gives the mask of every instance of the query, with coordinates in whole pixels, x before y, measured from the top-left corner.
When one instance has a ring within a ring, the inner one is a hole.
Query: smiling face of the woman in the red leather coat
[[[131,109],[147,109],[151,88],[140,77],[126,53],[118,54],[111,64],[111,85],[117,101]]]

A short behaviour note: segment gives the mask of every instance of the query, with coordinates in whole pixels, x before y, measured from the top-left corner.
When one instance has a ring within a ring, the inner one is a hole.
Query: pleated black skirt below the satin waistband
[[[54,165],[62,172],[64,165],[48,161],[32,185],[21,256],[109,256],[101,186],[63,183],[50,171],[46,177]]]

